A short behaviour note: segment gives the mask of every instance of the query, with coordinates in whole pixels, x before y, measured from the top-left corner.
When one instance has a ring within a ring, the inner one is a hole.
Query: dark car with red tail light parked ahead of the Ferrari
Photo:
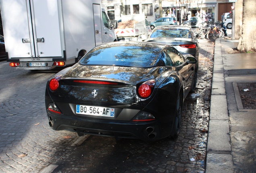
[[[182,54],[192,54],[197,59],[197,71],[199,44],[190,27],[179,25],[157,26],[145,41],[169,44]]]

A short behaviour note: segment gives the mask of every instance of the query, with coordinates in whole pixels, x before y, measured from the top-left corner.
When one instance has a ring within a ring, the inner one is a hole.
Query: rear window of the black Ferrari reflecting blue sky
[[[152,67],[161,48],[153,46],[99,46],[86,54],[80,64]]]

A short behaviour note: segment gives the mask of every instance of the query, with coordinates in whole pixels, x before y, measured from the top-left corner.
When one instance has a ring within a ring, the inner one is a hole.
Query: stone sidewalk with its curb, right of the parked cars
[[[237,44],[215,41],[206,173],[256,170],[256,110],[243,108],[236,85],[256,82],[256,53],[228,54]]]

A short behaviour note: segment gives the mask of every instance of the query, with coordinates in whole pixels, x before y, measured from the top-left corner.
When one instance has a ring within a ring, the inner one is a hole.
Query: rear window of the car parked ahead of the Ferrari
[[[157,29],[154,30],[150,38],[191,38],[189,30],[186,29]]]

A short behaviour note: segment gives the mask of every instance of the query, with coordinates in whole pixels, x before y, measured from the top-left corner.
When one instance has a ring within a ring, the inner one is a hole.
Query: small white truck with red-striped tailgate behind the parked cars
[[[118,41],[142,41],[151,33],[144,14],[122,15],[118,25],[115,29]]]

